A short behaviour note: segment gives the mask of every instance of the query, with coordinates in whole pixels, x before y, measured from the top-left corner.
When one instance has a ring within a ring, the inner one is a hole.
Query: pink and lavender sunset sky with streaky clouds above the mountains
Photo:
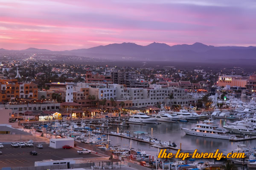
[[[256,0],[0,0],[0,48],[256,46]]]

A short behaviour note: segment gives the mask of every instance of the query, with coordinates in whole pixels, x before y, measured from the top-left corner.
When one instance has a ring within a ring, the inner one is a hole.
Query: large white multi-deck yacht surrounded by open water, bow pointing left
[[[181,128],[187,135],[201,136],[207,138],[230,139],[235,135],[227,135],[225,129],[219,128],[218,124],[196,124],[192,129]]]

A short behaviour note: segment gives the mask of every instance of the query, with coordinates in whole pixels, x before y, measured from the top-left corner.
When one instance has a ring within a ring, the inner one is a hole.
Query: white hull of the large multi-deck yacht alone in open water
[[[217,139],[226,139],[230,140],[231,136],[228,135],[218,135],[218,134],[212,134],[212,133],[204,133],[204,132],[196,132],[189,130],[187,128],[181,128],[187,135],[193,135],[193,136],[200,136],[200,137],[206,137],[206,138],[217,138]]]

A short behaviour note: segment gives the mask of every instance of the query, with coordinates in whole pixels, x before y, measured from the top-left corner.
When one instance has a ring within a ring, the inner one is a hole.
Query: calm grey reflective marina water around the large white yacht
[[[225,125],[228,122],[233,122],[231,120],[224,120],[224,119],[215,119],[214,124],[219,124],[220,126]],[[192,135],[186,135],[183,130],[181,130],[181,127],[191,128],[195,127],[195,124],[202,123],[202,121],[189,121],[189,122],[176,122],[176,123],[168,123],[168,122],[162,122],[161,124],[146,124],[146,125],[134,125],[131,124],[130,127],[116,127],[114,126],[110,131],[117,131],[119,130],[119,133],[122,131],[130,131],[131,135],[135,131],[143,131],[147,132],[147,136],[155,137],[157,139],[161,139],[161,141],[174,141],[177,146],[180,148],[181,143],[181,149],[183,151],[192,151],[195,149],[198,149],[200,152],[214,152],[214,150],[220,149],[220,150],[227,150],[232,152],[232,150],[235,150],[237,147],[237,144],[246,144],[248,147],[256,147],[256,140],[250,140],[250,141],[241,141],[241,142],[230,142],[228,140],[223,139],[214,139],[214,138],[205,138],[205,137],[197,137]],[[121,145],[125,148],[130,148],[130,140],[126,138],[120,138],[116,136],[109,136],[109,138],[112,140],[112,145]],[[158,153],[158,148],[151,147],[147,143],[138,142],[138,141],[132,141],[131,147],[134,148],[134,150],[140,148],[143,151],[145,151],[148,154],[156,156]],[[172,152],[176,152],[173,150],[170,150]]]

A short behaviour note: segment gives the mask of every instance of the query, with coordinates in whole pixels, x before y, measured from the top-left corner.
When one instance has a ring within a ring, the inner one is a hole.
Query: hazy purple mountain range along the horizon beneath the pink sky
[[[182,44],[169,46],[166,43],[151,43],[147,46],[136,43],[113,43],[106,46],[96,46],[88,49],[73,49],[65,51],[50,51],[48,49],[29,48],[24,50],[0,49],[0,52],[41,52],[64,55],[78,55],[93,58],[122,59],[147,61],[223,61],[233,62],[250,59],[256,61],[255,46],[207,46],[203,43],[192,45]]]

